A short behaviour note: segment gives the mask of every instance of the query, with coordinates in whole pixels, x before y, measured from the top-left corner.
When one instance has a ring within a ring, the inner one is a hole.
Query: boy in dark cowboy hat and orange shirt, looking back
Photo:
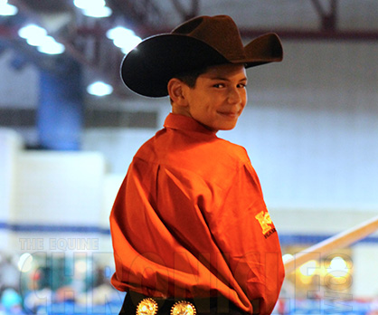
[[[165,128],[133,159],[110,215],[121,314],[269,314],[284,277],[244,148],[217,138],[247,102],[246,68],[282,60],[276,34],[243,47],[229,16],[200,16],[129,52],[132,91],[169,95]]]

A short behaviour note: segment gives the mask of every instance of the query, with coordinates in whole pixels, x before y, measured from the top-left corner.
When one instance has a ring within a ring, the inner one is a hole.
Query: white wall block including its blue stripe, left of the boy
[[[69,250],[72,246],[61,241],[68,234],[71,239],[90,238],[87,247],[99,249],[99,234],[93,227],[96,230],[99,226],[103,210],[102,155],[21,150],[14,158],[14,168],[14,205],[6,220],[14,232],[8,250]],[[72,230],[81,227],[92,230]],[[70,233],[64,232],[67,228]],[[72,248],[80,250],[83,246],[75,244]]]

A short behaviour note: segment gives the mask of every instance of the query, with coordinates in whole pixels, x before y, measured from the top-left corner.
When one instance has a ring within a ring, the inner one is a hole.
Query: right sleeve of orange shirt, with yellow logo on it
[[[260,301],[260,313],[270,314],[284,269],[278,234],[250,164],[239,168],[224,191],[222,205],[213,210],[207,214],[209,226],[241,286],[240,294]]]

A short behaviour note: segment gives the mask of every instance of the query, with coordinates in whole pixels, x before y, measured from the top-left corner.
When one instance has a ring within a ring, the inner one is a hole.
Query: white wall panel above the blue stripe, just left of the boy
[[[17,212],[11,221],[98,224],[104,171],[99,153],[24,151],[17,161]]]

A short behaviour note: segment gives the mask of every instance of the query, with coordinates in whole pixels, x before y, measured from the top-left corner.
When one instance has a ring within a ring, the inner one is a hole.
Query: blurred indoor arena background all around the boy
[[[248,150],[284,258],[378,214],[378,1],[0,0],[1,314],[118,313],[109,212],[170,111],[122,86],[119,64],[199,14],[282,39],[218,135]],[[275,313],[377,313],[377,265],[377,233],[315,253]]]

